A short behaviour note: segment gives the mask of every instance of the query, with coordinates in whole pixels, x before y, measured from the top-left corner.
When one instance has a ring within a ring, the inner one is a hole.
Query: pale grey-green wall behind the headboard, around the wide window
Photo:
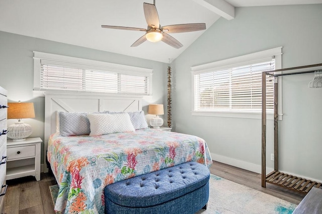
[[[149,103],[164,104],[166,107],[167,95],[165,91],[168,68],[166,63],[0,31],[0,86],[8,90],[8,102],[19,100],[34,102],[36,118],[24,119],[33,127],[30,137],[41,137],[44,140],[45,99],[44,97],[35,97],[33,93],[33,51],[153,69],[153,96],[151,99],[143,101],[143,110],[147,113]],[[16,122],[14,119],[8,120],[8,125],[14,122]],[[43,160],[43,150],[42,143],[41,160]]]

